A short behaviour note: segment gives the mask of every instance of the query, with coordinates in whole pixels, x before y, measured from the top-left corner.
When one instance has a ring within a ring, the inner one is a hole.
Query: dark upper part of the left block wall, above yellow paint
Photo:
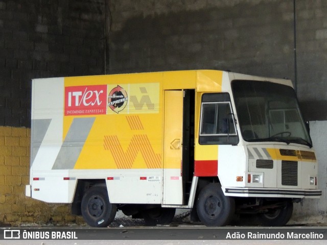
[[[104,1],[0,0],[0,125],[31,127],[31,80],[104,73]]]

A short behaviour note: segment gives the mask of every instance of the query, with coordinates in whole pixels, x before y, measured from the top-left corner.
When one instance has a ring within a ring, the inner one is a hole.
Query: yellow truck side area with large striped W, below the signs
[[[161,168],[161,115],[139,116],[139,128],[127,117],[98,115],[75,168]]]

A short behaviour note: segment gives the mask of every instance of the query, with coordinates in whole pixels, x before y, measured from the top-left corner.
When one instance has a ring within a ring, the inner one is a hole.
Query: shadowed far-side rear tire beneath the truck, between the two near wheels
[[[146,226],[168,225],[175,216],[175,208],[151,208],[143,211]]]

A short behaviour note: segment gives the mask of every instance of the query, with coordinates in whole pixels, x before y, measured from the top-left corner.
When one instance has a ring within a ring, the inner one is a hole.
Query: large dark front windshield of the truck
[[[293,88],[244,80],[235,80],[231,85],[244,140],[312,146]]]

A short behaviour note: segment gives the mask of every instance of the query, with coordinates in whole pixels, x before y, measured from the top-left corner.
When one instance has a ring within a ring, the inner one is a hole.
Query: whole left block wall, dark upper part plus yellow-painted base
[[[0,225],[81,222],[25,197],[31,80],[104,74],[104,17],[103,0],[0,0]]]

